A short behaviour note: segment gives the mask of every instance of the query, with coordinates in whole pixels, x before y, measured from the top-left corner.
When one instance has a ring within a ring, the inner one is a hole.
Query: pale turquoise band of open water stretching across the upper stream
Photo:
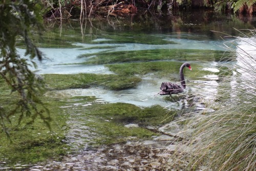
[[[157,35],[160,36],[160,35]],[[187,35],[192,37],[194,35]],[[170,44],[147,45],[136,43],[104,43],[109,39],[98,38],[93,42],[95,44],[84,44],[81,42],[74,43],[77,48],[39,48],[44,55],[41,61],[33,59],[37,63],[36,73],[38,74],[77,74],[77,73],[100,73],[113,74],[104,66],[86,66],[79,63],[90,60],[90,57],[79,58],[80,55],[94,54],[100,52],[118,52],[118,51],[141,51],[156,49],[194,49],[194,50],[223,50],[221,41],[193,40],[187,38],[174,38],[173,35],[161,35],[163,40],[169,41]],[[101,41],[101,44],[98,42]],[[18,53],[24,57],[25,50],[17,49]]]

